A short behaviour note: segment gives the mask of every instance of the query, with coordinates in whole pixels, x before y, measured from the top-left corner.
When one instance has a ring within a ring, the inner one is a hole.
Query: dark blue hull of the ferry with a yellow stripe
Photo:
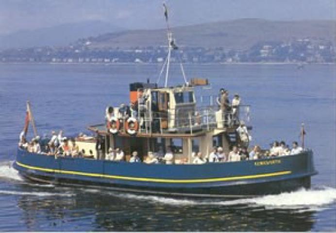
[[[262,195],[310,186],[312,151],[232,163],[164,165],[47,156],[17,151],[14,167],[28,179],[143,192]]]

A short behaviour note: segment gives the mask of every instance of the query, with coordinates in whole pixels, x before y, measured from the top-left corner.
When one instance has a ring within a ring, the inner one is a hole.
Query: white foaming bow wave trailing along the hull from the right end
[[[191,200],[175,199],[158,196],[145,196],[135,194],[117,194],[119,198],[141,199],[149,202],[159,202],[168,205],[246,205],[248,207],[262,206],[265,209],[293,209],[298,211],[319,211],[328,208],[336,202],[336,188],[321,187],[319,189],[300,189],[298,191],[265,195],[235,200]]]

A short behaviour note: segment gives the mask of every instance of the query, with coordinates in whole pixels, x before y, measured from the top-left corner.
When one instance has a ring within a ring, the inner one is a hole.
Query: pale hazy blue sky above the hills
[[[164,27],[162,0],[0,0],[0,34],[100,20],[125,29]],[[336,0],[166,0],[173,26],[238,18],[336,19]]]

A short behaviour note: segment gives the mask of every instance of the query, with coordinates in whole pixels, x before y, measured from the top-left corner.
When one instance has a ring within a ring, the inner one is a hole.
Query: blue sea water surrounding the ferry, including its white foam
[[[0,231],[336,231],[335,65],[186,65],[251,104],[252,145],[300,141],[314,151],[312,188],[242,199],[166,198],[22,180],[12,163],[26,100],[38,133],[86,132],[108,105],[128,103],[131,82],[158,80],[160,65],[0,65]],[[159,80],[163,84],[163,77]],[[182,83],[173,66],[169,85]],[[30,134],[32,135],[32,134]]]

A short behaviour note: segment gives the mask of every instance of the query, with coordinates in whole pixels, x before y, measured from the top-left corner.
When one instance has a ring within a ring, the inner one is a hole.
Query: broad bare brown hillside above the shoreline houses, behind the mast
[[[327,40],[335,45],[336,21],[270,21],[265,19],[237,19],[204,23],[173,29],[179,46],[200,46],[204,48],[223,47],[244,50],[258,42],[290,41],[300,38]],[[90,48],[130,48],[165,45],[166,31],[131,30],[105,33],[81,41],[90,41]]]

